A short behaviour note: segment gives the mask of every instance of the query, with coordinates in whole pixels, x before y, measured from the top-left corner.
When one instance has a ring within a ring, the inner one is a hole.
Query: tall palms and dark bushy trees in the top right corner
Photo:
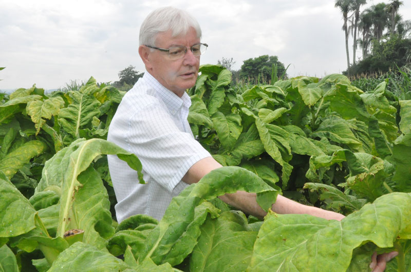
[[[403,2],[394,0],[378,3],[360,13],[366,0],[337,0],[344,19],[346,75],[388,72],[396,67],[408,67],[411,63],[411,20],[399,14]],[[349,36],[352,41],[352,62],[349,55]],[[356,58],[357,48],[362,58]]]

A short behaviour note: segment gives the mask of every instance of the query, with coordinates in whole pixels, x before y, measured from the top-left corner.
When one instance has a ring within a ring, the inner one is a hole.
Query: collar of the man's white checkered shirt
[[[190,108],[191,99],[186,92],[184,92],[184,94],[181,97],[179,97],[169,89],[162,86],[161,83],[158,82],[158,80],[155,79],[154,76],[152,76],[147,71],[144,73],[143,79],[147,82],[148,86],[152,87],[156,91],[158,97],[163,100],[163,102],[166,104],[167,108],[173,115],[182,106]]]

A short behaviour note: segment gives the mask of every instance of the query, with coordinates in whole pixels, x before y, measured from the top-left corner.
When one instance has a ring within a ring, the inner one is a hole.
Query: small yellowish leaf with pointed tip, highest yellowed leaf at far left
[[[61,108],[64,107],[64,100],[61,97],[52,97],[46,100],[29,101],[26,106],[27,113],[35,123],[36,134],[40,132],[45,119],[50,119],[57,115]]]

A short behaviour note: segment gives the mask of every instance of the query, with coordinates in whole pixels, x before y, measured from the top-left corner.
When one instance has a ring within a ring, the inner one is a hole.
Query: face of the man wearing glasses
[[[193,87],[198,76],[200,66],[200,56],[194,56],[190,48],[200,43],[194,28],[190,28],[185,35],[172,37],[169,30],[157,35],[156,47],[169,49],[171,46],[185,46],[187,53],[179,59],[171,60],[167,52],[154,50],[148,53],[147,70],[165,88],[173,91],[176,95],[182,96],[186,89]]]

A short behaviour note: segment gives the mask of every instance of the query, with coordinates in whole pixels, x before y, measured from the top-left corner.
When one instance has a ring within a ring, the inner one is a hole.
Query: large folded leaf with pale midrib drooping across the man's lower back
[[[104,238],[114,234],[106,189],[100,175],[89,167],[102,154],[116,154],[138,171],[140,182],[144,182],[141,163],[134,154],[102,139],[79,139],[46,162],[35,190],[54,191],[61,196],[57,236],[80,228],[85,231],[83,241],[100,248],[105,247]]]

